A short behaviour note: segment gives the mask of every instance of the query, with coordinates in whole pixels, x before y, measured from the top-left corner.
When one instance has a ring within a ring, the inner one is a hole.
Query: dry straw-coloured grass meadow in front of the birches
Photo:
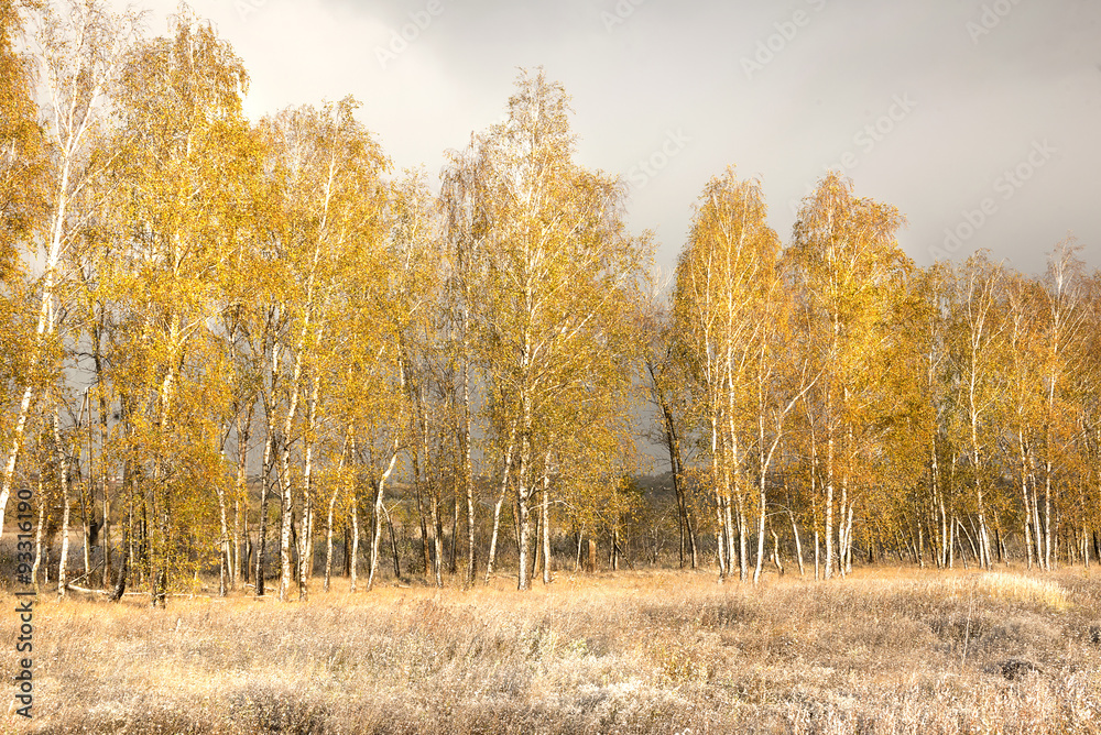
[[[174,597],[167,610],[43,599],[34,717],[13,704],[0,731],[1101,732],[1095,569],[880,567],[757,588],[705,572],[559,573],[530,593],[513,585]],[[7,615],[11,683],[19,623]]]

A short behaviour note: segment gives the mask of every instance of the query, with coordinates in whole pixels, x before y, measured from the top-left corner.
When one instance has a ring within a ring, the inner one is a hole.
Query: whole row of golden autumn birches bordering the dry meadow
[[[370,590],[389,552],[526,589],[567,544],[618,567],[672,536],[753,581],[770,547],[827,579],[1098,553],[1101,279],[1070,240],[1043,276],[917,268],[900,212],[829,174],[784,245],[728,168],[663,288],[542,70],[437,191],[350,97],[248,120],[243,63],[185,6],[146,37],[102,0],[2,0],[0,67],[0,515],[37,519],[26,582],[287,600],[340,567]],[[668,492],[632,479],[644,435]]]

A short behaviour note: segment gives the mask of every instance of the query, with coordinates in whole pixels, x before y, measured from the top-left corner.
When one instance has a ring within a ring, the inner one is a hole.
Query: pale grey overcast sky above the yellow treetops
[[[124,3],[118,1],[121,7]],[[166,31],[168,0],[145,0]],[[194,0],[250,117],[348,94],[401,169],[502,119],[517,67],[573,96],[580,163],[632,184],[668,273],[707,180],[760,177],[786,242],[828,167],[908,219],[918,265],[979,248],[1101,266],[1101,0]],[[951,235],[951,237],[950,237]]]

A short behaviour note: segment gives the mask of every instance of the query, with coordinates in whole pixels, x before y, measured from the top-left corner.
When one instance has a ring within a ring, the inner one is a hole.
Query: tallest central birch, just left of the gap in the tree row
[[[522,72],[508,120],[476,141],[486,287],[477,319],[487,371],[515,402],[520,526],[517,584],[526,590],[533,443],[541,416],[592,359],[618,362],[625,304],[648,249],[622,223],[623,189],[573,162],[569,99],[542,70]]]

